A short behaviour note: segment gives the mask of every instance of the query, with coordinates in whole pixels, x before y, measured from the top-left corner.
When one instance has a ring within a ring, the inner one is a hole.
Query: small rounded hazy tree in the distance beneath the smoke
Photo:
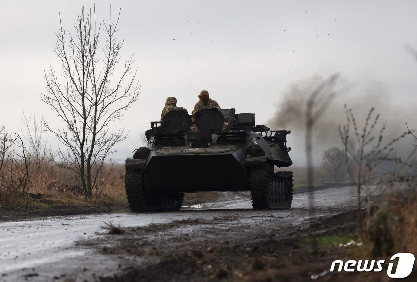
[[[332,181],[342,181],[347,176],[350,157],[339,147],[332,147],[323,151],[322,168],[329,174]],[[347,160],[347,161],[346,161]]]

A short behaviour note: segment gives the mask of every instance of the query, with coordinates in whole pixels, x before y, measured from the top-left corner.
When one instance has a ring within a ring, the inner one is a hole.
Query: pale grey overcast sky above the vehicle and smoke
[[[58,13],[71,32],[82,5],[94,3],[98,19],[108,19],[110,4],[113,13],[121,8],[122,56],[134,53],[141,84],[138,102],[115,125],[130,131],[115,159],[130,155],[138,132],[159,119],[166,97],[191,111],[203,89],[222,108],[256,113],[258,124],[272,117],[289,83],[314,75],[378,81],[393,105],[416,101],[417,63],[403,48],[417,47],[415,0],[2,0],[0,124],[9,131],[20,131],[23,112],[59,125],[40,101],[43,71],[49,65],[59,71],[53,53]],[[56,144],[52,136],[49,141]],[[294,144],[293,150],[303,149],[302,142]]]

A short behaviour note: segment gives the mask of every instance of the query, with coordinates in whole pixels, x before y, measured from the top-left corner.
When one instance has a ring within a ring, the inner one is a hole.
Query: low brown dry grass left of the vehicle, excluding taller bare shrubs
[[[110,171],[111,169],[111,171]],[[28,184],[25,191],[16,189],[10,183],[10,165],[3,166],[0,181],[0,209],[31,209],[46,211],[50,208],[125,206],[124,166],[107,164],[106,182],[100,189],[99,197],[86,199],[80,190],[79,178],[68,170],[49,161],[36,166],[28,159]],[[80,211],[81,212],[81,211]]]

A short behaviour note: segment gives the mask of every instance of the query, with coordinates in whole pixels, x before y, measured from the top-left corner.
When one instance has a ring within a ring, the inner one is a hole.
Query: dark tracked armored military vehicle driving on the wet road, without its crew
[[[168,112],[162,122],[151,122],[148,145],[126,159],[132,212],[178,211],[184,193],[199,191],[250,191],[254,209],[291,207],[292,172],[274,171],[292,164],[291,131],[255,125],[254,113],[233,108],[198,111],[190,126],[187,113]]]

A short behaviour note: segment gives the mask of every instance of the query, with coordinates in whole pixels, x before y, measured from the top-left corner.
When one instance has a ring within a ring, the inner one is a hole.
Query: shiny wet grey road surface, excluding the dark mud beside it
[[[104,221],[137,227],[181,219],[223,217],[222,224],[239,222],[250,227],[269,224],[268,219],[274,218],[273,228],[278,229],[300,224],[310,216],[353,209],[357,201],[354,187],[322,189],[314,195],[314,214],[307,210],[311,192],[306,192],[294,194],[292,207],[286,211],[254,211],[250,199],[236,199],[184,207],[180,212],[95,214],[0,223],[0,281],[94,281],[94,273],[113,274],[123,264],[123,257],[98,254],[93,248],[76,244],[107,236],[100,228]],[[192,227],[188,229],[195,231]]]

